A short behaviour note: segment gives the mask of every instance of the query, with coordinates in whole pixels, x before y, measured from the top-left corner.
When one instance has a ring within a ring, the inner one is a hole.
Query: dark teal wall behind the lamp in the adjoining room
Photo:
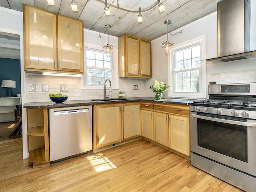
[[[0,86],[2,85],[2,80],[16,81],[16,88],[12,88],[12,94],[16,96],[17,93],[21,93],[19,59],[0,58]],[[0,97],[6,97],[5,87],[0,87]]]

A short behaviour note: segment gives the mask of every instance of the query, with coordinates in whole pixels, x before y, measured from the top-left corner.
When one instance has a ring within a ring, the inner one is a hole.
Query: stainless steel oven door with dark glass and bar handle
[[[190,112],[191,152],[256,176],[256,120]]]

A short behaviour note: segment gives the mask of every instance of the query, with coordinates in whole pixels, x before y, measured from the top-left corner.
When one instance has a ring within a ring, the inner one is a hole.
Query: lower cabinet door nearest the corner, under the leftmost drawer
[[[153,111],[141,110],[142,136],[154,140]]]

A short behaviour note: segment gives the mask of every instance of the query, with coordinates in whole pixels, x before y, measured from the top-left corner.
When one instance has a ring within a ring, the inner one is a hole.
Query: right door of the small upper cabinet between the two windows
[[[140,76],[150,77],[151,73],[151,43],[140,39]]]

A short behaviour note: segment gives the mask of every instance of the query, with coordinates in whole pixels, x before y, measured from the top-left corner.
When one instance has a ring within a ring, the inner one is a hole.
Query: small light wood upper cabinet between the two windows
[[[151,78],[151,42],[123,34],[118,38],[119,77]]]

